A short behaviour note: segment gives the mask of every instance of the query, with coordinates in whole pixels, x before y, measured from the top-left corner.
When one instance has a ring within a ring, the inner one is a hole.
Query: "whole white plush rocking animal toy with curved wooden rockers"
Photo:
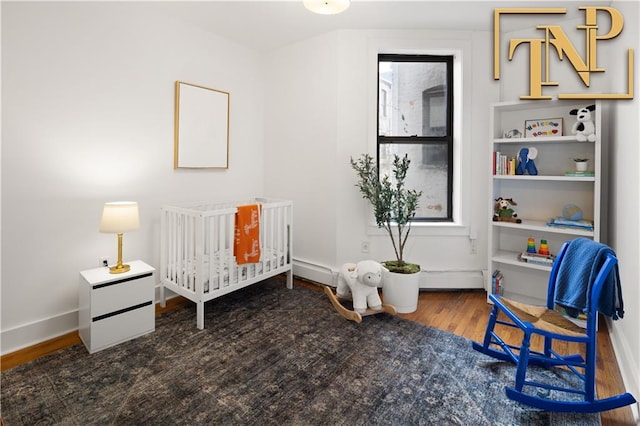
[[[361,322],[362,316],[387,312],[395,315],[392,305],[385,305],[380,300],[378,285],[382,282],[382,265],[373,260],[356,263],[345,263],[340,268],[336,295],[329,287],[325,292],[338,312],[347,319]],[[353,311],[345,308],[338,299],[351,299]]]

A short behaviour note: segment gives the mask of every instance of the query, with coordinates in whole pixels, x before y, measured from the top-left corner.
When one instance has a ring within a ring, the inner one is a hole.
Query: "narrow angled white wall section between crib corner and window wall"
[[[296,259],[332,266],[336,250],[336,34],[265,59],[265,192],[293,204]]]

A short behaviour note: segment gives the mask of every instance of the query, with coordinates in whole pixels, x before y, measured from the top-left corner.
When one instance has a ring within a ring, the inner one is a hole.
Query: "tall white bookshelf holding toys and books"
[[[581,142],[571,134],[576,117],[569,114],[574,108],[596,105],[592,118],[596,126],[595,142]],[[518,254],[526,251],[527,239],[534,238],[536,249],[542,239],[555,255],[564,241],[577,237],[602,241],[603,218],[603,105],[590,100],[516,101],[491,105],[490,143],[493,152],[516,158],[521,148],[536,148],[534,162],[538,174],[495,175],[493,158],[489,159],[491,194],[490,217],[495,199],[512,198],[522,223],[489,223],[489,264],[487,292],[492,289],[491,274],[496,269],[503,275],[504,295],[527,303],[544,303],[551,267],[521,262]],[[525,120],[562,118],[562,135],[547,137],[504,138],[505,132],[518,129],[524,132]],[[594,176],[565,176],[575,169],[573,158],[588,158]],[[550,218],[561,216],[567,204],[579,206],[584,219],[593,221],[593,230],[547,226]],[[491,219],[490,219],[491,220]]]

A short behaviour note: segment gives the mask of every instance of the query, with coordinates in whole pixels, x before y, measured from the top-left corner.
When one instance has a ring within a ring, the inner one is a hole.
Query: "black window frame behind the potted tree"
[[[441,146],[443,144],[447,147],[447,212],[446,217],[416,217],[412,219],[413,222],[453,222],[453,174],[454,174],[454,162],[453,162],[453,140],[454,140],[454,128],[453,128],[453,115],[454,115],[454,102],[453,102],[453,55],[430,55],[430,54],[395,54],[395,53],[380,53],[378,54],[378,75],[377,75],[377,105],[376,105],[376,161],[378,170],[380,170],[380,150],[383,145],[389,144],[415,144],[428,146]],[[447,66],[447,117],[446,117],[446,132],[444,136],[381,136],[380,135],[380,62],[438,62],[445,63]]]

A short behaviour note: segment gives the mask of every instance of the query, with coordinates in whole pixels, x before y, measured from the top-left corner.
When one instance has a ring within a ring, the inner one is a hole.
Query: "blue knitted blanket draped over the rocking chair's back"
[[[591,299],[591,288],[607,253],[615,256],[613,250],[604,244],[587,238],[576,238],[569,247],[558,269],[555,301],[567,309],[570,315],[577,316],[587,312],[594,301]],[[624,315],[622,290],[618,265],[616,264],[602,288],[598,311],[612,319]]]

